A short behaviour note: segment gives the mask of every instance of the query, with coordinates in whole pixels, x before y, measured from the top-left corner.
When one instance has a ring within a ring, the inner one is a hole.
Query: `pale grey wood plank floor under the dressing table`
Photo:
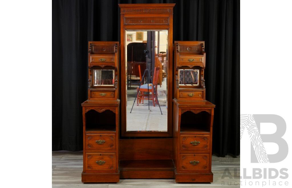
[[[120,179],[118,183],[82,183],[82,152],[52,152],[52,187],[239,187],[240,156],[212,155],[212,183],[176,183],[173,179]],[[237,170],[237,175],[234,176]],[[229,174],[230,172],[230,174]],[[224,175],[223,175],[224,174]],[[231,177],[232,176],[232,177]],[[232,178],[232,179],[231,179]],[[224,185],[223,185],[224,183]]]

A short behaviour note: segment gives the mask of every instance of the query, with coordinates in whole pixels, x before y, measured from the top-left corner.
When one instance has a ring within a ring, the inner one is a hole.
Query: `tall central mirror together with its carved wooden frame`
[[[119,6],[121,136],[172,136],[174,4]]]

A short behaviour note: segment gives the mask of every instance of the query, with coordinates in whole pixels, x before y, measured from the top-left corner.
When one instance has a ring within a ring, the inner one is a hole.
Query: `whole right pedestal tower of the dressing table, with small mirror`
[[[173,136],[176,182],[213,182],[215,105],[206,101],[204,41],[175,41]]]

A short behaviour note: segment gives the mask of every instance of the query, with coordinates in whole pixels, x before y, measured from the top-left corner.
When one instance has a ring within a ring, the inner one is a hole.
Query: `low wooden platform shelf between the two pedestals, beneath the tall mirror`
[[[173,178],[175,167],[172,160],[122,160],[120,161],[120,178],[158,179]]]

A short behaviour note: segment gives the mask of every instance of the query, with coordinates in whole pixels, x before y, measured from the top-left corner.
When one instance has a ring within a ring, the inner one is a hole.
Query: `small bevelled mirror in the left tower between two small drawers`
[[[114,70],[93,70],[93,86],[113,86],[114,85]]]

